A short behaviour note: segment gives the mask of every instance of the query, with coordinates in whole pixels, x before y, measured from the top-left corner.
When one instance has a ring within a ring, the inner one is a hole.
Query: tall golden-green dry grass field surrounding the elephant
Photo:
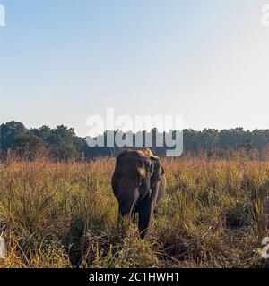
[[[117,229],[113,159],[0,164],[0,267],[268,267],[269,162],[164,159],[168,192],[145,240]],[[0,233],[1,234],[1,233]]]

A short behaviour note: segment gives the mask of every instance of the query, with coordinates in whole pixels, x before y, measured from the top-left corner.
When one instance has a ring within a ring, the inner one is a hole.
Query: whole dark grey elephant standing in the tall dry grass
[[[148,148],[125,150],[117,156],[112,189],[119,217],[138,213],[143,238],[149,230],[154,208],[165,193],[166,179],[161,161]]]

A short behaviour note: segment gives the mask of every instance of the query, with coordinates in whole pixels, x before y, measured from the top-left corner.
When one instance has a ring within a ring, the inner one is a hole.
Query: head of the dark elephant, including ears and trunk
[[[151,198],[163,173],[160,159],[148,148],[125,150],[117,156],[112,187],[120,214],[131,214],[134,205]]]

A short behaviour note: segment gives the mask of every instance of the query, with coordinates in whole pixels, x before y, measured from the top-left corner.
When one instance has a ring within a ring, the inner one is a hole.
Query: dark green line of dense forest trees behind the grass
[[[55,160],[82,160],[115,156],[120,151],[119,147],[89,147],[85,138],[76,136],[73,128],[64,125],[57,126],[56,129],[48,126],[28,129],[21,122],[7,122],[0,125],[0,131],[2,159],[10,152],[29,159],[46,155]],[[167,147],[156,147],[156,132],[157,130],[152,132],[152,149],[157,155],[164,156]],[[105,132],[104,138],[107,134]],[[145,132],[143,136],[144,134]],[[188,129],[183,130],[183,136],[184,156],[230,158],[240,153],[253,159],[269,158],[269,130]]]

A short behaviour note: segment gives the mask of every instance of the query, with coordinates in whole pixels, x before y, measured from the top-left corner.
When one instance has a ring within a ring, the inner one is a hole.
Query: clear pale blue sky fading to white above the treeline
[[[269,128],[264,0],[0,0],[1,122],[183,115],[186,128]]]

